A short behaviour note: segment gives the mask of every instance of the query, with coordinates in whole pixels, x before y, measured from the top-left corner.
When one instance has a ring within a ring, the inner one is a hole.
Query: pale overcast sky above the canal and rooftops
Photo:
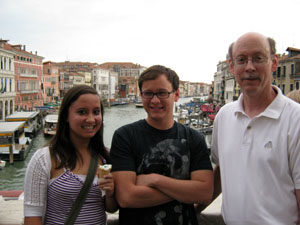
[[[0,0],[0,38],[44,61],[164,65],[211,83],[247,32],[300,48],[300,0]]]

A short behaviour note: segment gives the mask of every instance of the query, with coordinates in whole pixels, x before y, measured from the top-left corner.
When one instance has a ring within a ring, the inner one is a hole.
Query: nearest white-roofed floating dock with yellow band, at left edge
[[[0,159],[24,160],[31,139],[25,137],[25,122],[0,122]]]

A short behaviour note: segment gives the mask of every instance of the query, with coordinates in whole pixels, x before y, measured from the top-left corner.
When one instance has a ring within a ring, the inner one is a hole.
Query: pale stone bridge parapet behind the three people
[[[197,215],[199,224],[225,225],[221,216],[221,203],[222,197],[220,195],[201,214]],[[0,191],[0,225],[22,225],[24,224],[23,221],[23,192]],[[108,213],[108,225],[118,225],[118,212]]]

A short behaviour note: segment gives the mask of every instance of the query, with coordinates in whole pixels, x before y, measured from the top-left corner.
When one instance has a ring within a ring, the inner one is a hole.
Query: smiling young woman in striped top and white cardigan
[[[103,107],[94,88],[80,85],[64,96],[49,147],[37,150],[27,167],[25,225],[64,224],[92,157],[98,158],[98,166],[109,160],[103,143]],[[96,176],[75,224],[106,224],[105,211],[117,208],[112,175],[101,182]]]

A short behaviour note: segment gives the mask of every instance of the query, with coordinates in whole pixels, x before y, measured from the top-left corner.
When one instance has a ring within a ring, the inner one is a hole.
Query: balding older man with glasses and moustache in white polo
[[[222,191],[227,225],[299,224],[300,105],[271,84],[275,51],[258,33],[229,48],[242,94],[218,113],[212,143],[214,198]]]

